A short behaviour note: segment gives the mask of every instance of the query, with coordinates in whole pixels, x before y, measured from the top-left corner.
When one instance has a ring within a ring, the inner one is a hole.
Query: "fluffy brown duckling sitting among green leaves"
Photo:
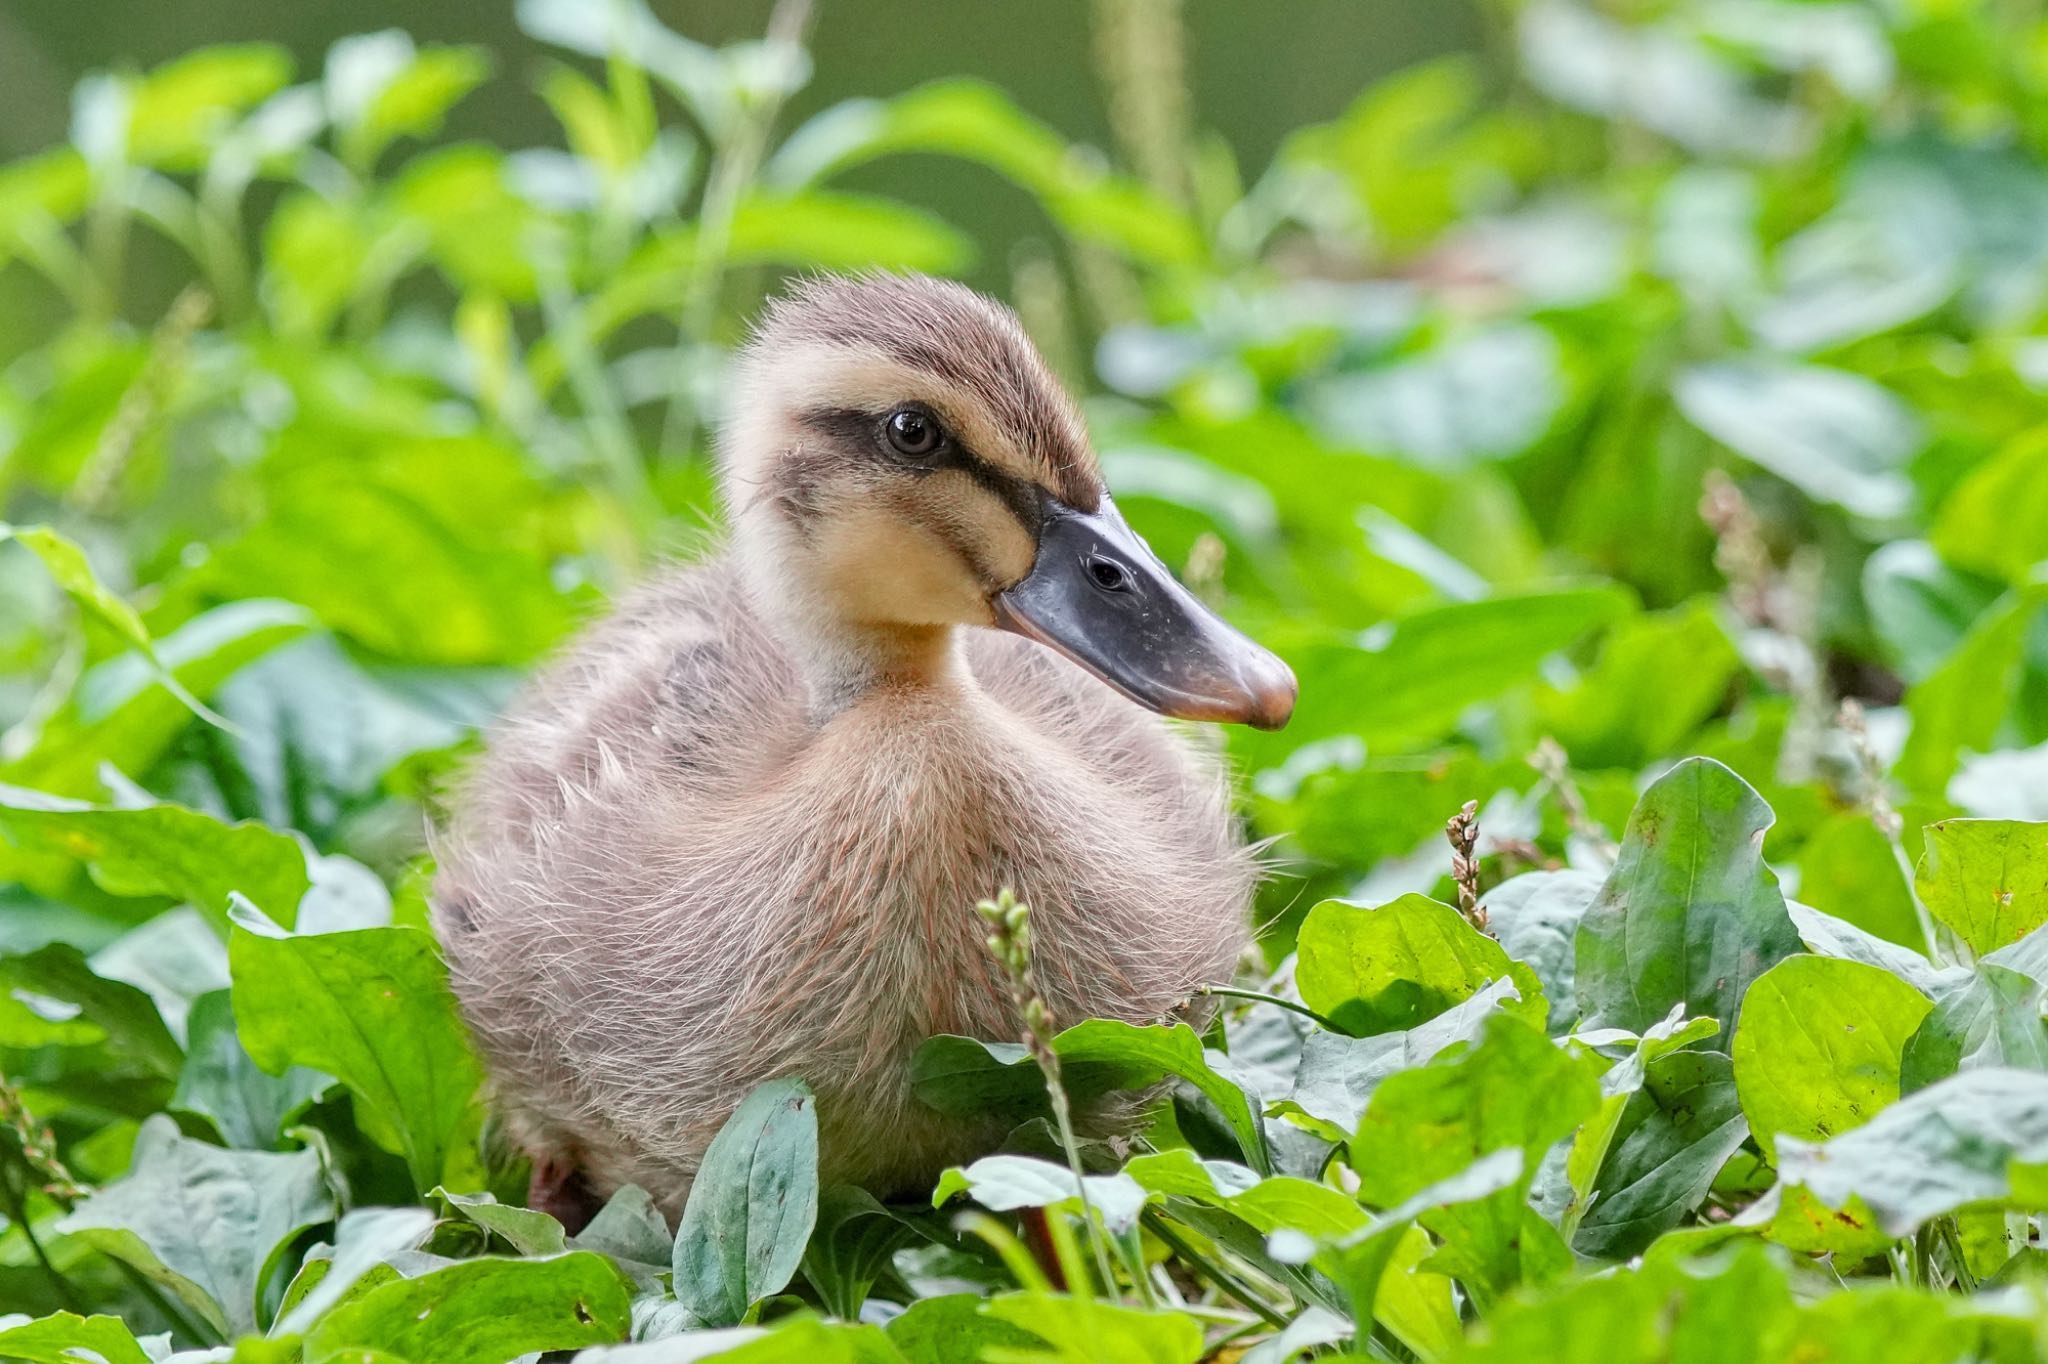
[[[973,905],[1032,905],[1065,1026],[1229,979],[1255,860],[1212,745],[1294,676],[1124,522],[1001,305],[811,279],[737,358],[725,547],[657,573],[498,725],[434,928],[537,1206],[676,1214],[754,1085],[817,1094],[821,1178],[924,1194],[1001,1128],[922,1106],[938,1032],[1018,1020]]]

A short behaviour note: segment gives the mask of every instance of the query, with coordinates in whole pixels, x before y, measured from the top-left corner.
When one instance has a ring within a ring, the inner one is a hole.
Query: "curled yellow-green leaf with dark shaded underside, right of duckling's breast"
[[[1296,936],[1294,985],[1303,1001],[1352,1036],[1430,1022],[1489,983],[1511,979],[1511,1014],[1544,1018],[1536,973],[1427,895],[1366,907],[1325,899]]]

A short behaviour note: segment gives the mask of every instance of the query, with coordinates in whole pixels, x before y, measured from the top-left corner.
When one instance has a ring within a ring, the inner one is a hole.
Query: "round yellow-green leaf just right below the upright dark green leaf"
[[[1907,1038],[1933,1004],[1876,967],[1788,956],[1743,999],[1735,1088],[1763,1157],[1778,1137],[1825,1141],[1898,1100]]]

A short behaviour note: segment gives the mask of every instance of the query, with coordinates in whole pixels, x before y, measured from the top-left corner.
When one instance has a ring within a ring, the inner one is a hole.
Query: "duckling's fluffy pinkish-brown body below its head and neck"
[[[672,1210],[756,1083],[819,1092],[825,1178],[922,1192],[1001,1131],[940,1118],[926,1036],[1014,1038],[973,903],[1034,905],[1061,1022],[1231,975],[1255,879],[1214,758],[1030,641],[809,725],[725,557],[590,629],[498,727],[434,922],[510,1131]]]

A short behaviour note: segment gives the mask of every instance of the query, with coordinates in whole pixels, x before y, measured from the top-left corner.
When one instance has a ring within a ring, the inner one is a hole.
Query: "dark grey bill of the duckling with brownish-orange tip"
[[[1159,715],[1280,729],[1294,713],[1294,672],[1180,586],[1108,498],[1081,512],[1047,496],[1032,569],[993,606]]]

